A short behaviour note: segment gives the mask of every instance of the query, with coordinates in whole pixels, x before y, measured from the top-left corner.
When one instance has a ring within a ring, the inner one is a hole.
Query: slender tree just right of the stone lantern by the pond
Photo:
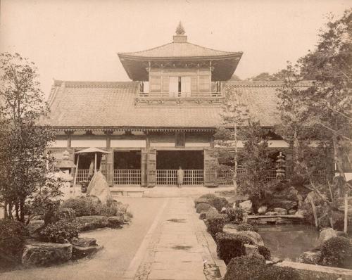
[[[307,87],[301,85],[303,77],[299,69],[288,63],[279,73],[282,86],[277,89],[277,108],[281,124],[276,131],[291,148],[291,179],[296,184],[305,184],[315,172],[328,169],[329,143],[325,133],[310,120]]]

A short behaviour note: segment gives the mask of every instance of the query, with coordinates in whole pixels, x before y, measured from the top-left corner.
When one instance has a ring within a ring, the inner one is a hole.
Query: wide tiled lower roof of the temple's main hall
[[[226,82],[241,91],[261,125],[279,123],[276,89],[280,82]],[[305,85],[303,85],[305,86]],[[194,105],[139,107],[134,105],[137,82],[55,81],[49,97],[50,125],[77,127],[218,127],[221,108]]]

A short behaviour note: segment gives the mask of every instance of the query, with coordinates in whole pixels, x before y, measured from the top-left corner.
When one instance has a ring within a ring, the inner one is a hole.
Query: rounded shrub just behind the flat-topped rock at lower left
[[[78,237],[80,230],[77,222],[68,219],[60,219],[58,222],[48,224],[40,231],[42,241],[65,243],[73,237]]]

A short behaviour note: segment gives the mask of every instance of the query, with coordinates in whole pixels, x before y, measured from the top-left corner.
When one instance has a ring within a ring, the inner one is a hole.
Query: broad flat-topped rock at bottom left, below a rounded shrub
[[[25,266],[49,266],[67,262],[72,257],[70,243],[32,242],[25,246],[22,263]]]

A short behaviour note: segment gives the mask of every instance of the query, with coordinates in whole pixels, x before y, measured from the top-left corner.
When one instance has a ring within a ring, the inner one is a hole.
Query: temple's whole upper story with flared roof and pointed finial
[[[180,23],[168,44],[145,51],[118,53],[130,79],[140,82],[137,104],[173,103],[180,98],[215,101],[221,97],[220,82],[232,77],[242,52],[191,44],[184,33]]]

